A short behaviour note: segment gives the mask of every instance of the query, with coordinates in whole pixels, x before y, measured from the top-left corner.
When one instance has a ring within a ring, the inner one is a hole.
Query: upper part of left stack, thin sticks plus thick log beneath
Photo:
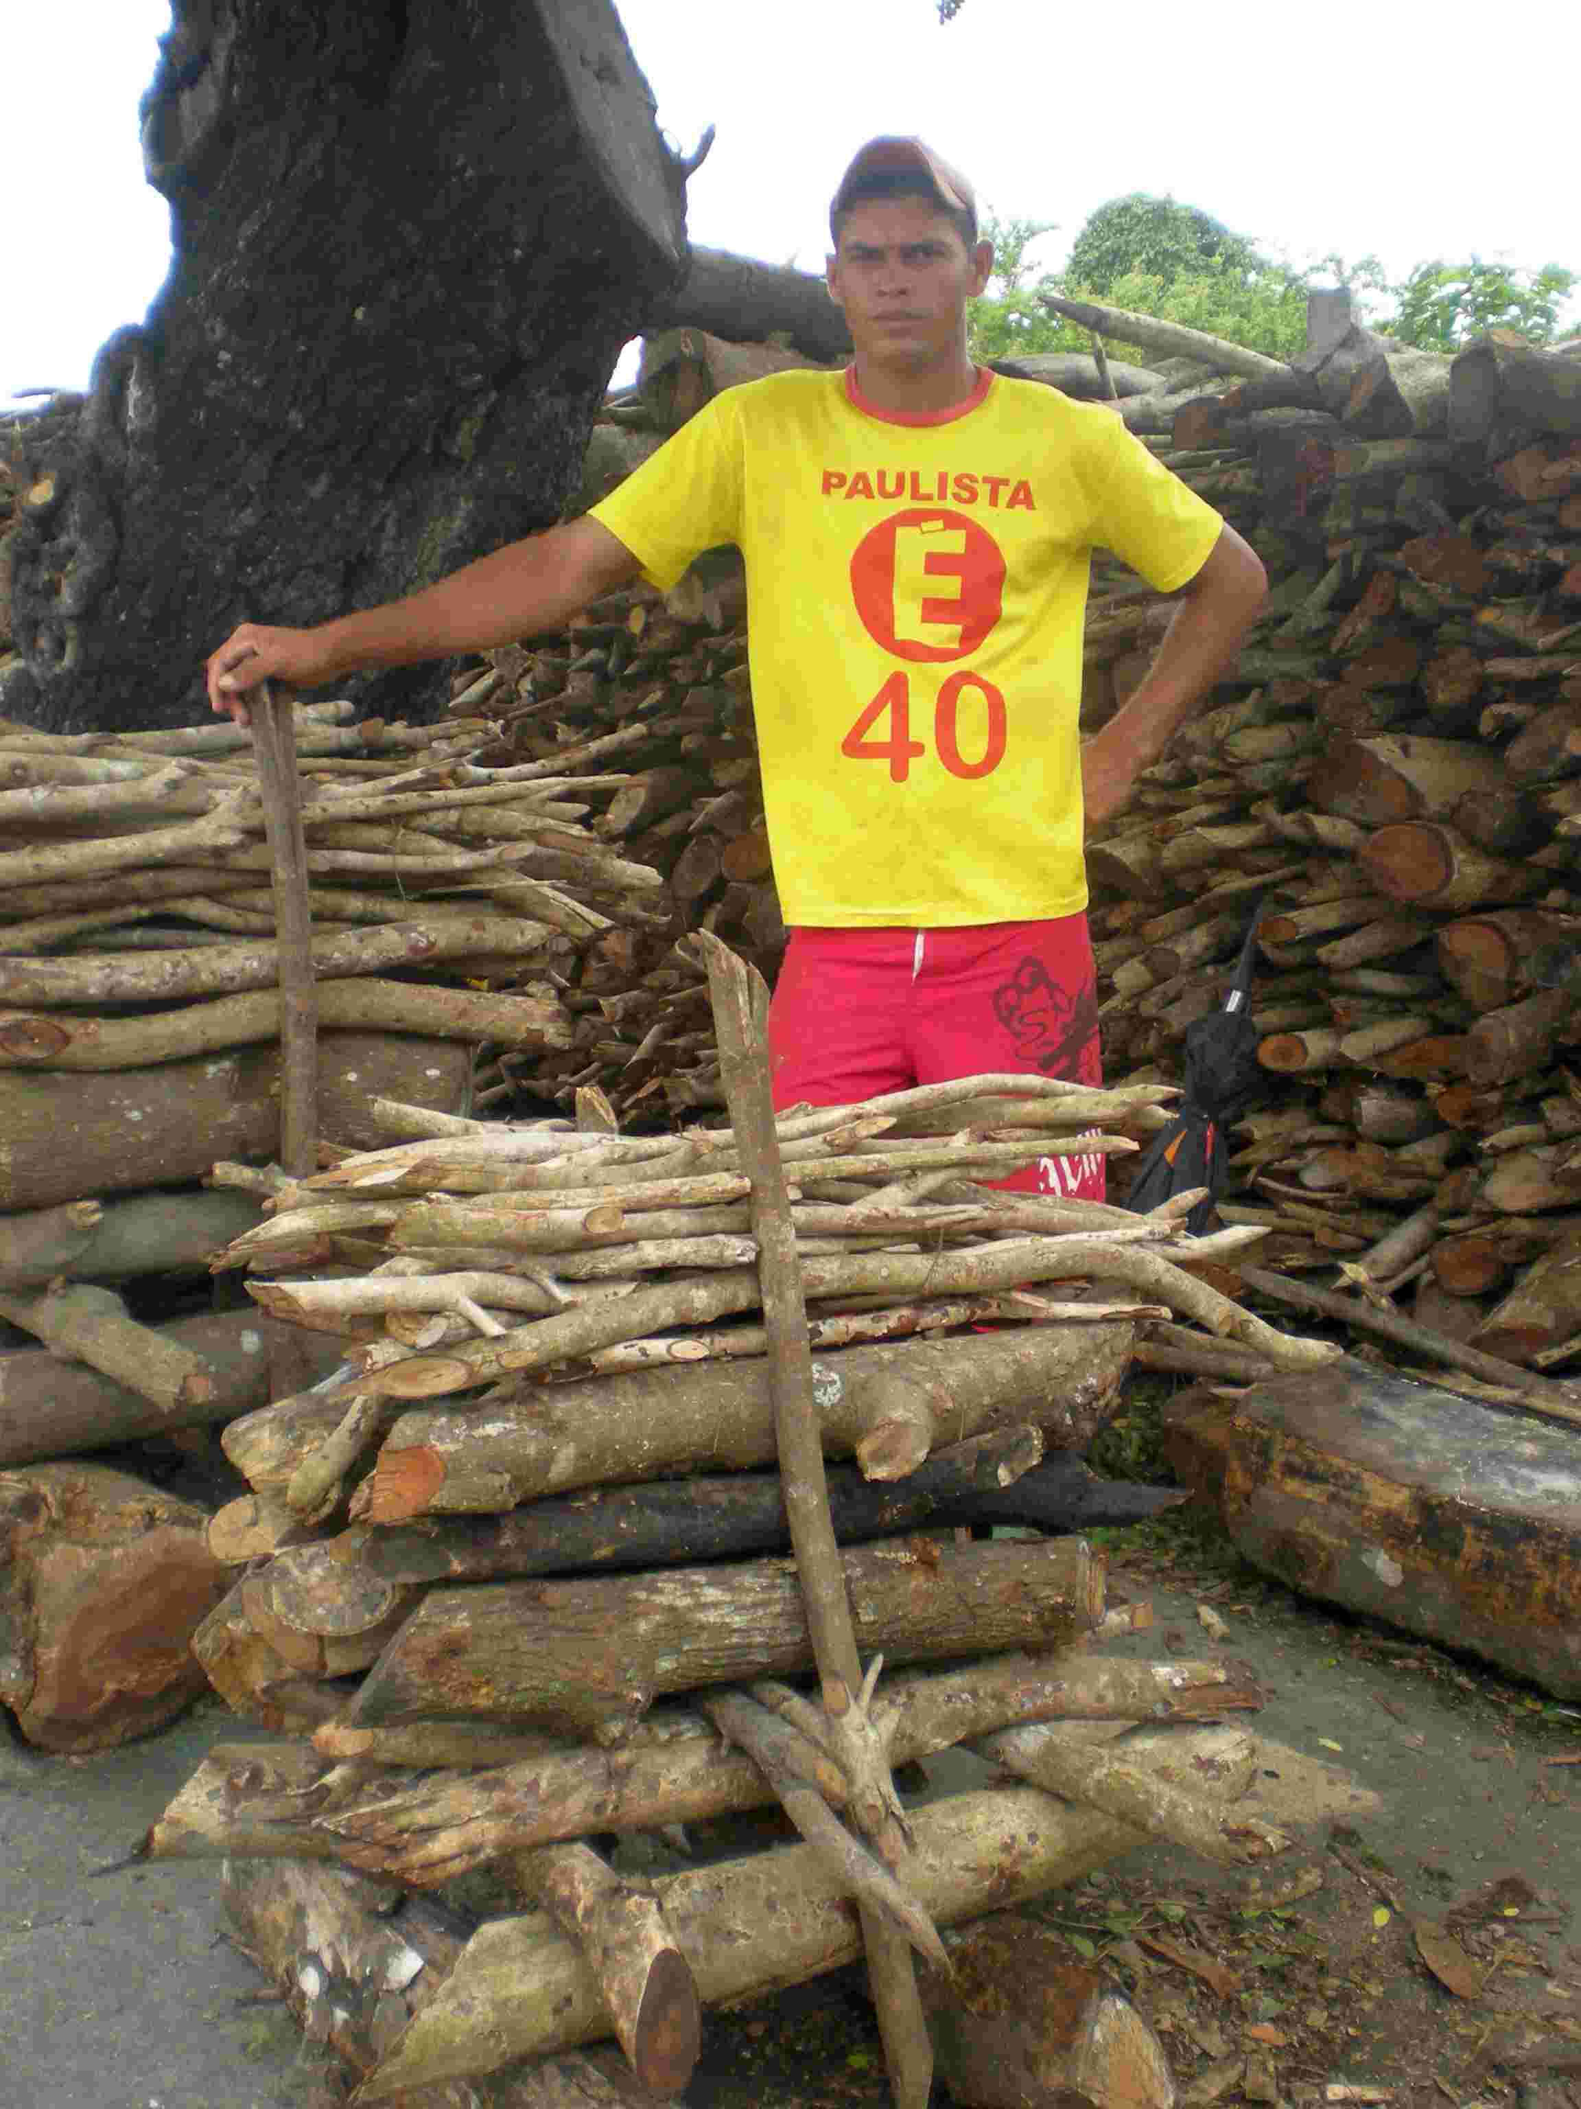
[[[620,795],[618,774],[584,774],[575,753],[491,768],[479,757],[495,728],[476,715],[350,719],[352,704],[329,702],[295,721],[325,1114],[344,1141],[367,1135],[369,1084],[453,1105],[470,1048],[569,1044],[561,964],[641,920],[660,886],[584,825]],[[234,1052],[278,1038],[249,734],[0,725],[0,1126],[13,1141],[0,1204],[171,1183],[219,1154],[268,1149],[270,1065]]]

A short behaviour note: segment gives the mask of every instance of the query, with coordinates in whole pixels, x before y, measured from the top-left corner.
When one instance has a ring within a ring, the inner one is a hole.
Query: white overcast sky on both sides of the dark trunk
[[[1473,34],[1419,0],[620,0],[660,103],[691,150],[691,238],[818,268],[824,200],[873,133],[921,133],[1003,217],[1058,224],[1130,190],[1199,205],[1294,262],[1374,251],[1391,274],[1433,255],[1581,268],[1581,215],[1549,93],[1575,80],[1581,11],[1530,38]],[[1570,21],[1570,30],[1564,30]],[[139,321],[167,268],[137,99],[169,0],[48,0],[0,38],[11,173],[0,259],[0,403],[80,388],[97,346]],[[1111,25],[1113,23],[1113,25]],[[1568,49],[1566,49],[1568,46]],[[1568,202],[1566,202],[1568,200]],[[1570,310],[1581,312],[1577,306]]]

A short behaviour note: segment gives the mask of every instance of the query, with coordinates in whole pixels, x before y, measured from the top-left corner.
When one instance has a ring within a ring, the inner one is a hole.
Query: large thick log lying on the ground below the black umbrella
[[[1166,1421],[1174,1468],[1256,1567],[1581,1698],[1570,1428],[1358,1362],[1187,1392]]]

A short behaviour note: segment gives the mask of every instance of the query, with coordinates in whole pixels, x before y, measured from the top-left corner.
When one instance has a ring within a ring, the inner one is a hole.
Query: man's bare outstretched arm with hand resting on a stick
[[[624,542],[599,521],[578,519],[508,542],[405,601],[310,631],[242,622],[209,660],[209,709],[245,725],[247,690],[259,681],[320,688],[363,669],[411,666],[559,631],[637,572]]]

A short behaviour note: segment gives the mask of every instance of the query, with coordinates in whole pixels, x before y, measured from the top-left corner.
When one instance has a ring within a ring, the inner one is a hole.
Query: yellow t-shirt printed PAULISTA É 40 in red
[[[592,508],[660,588],[734,542],[788,924],[1073,915],[1088,553],[1162,593],[1223,521],[1113,411],[982,373],[942,420],[845,373],[715,396]]]

